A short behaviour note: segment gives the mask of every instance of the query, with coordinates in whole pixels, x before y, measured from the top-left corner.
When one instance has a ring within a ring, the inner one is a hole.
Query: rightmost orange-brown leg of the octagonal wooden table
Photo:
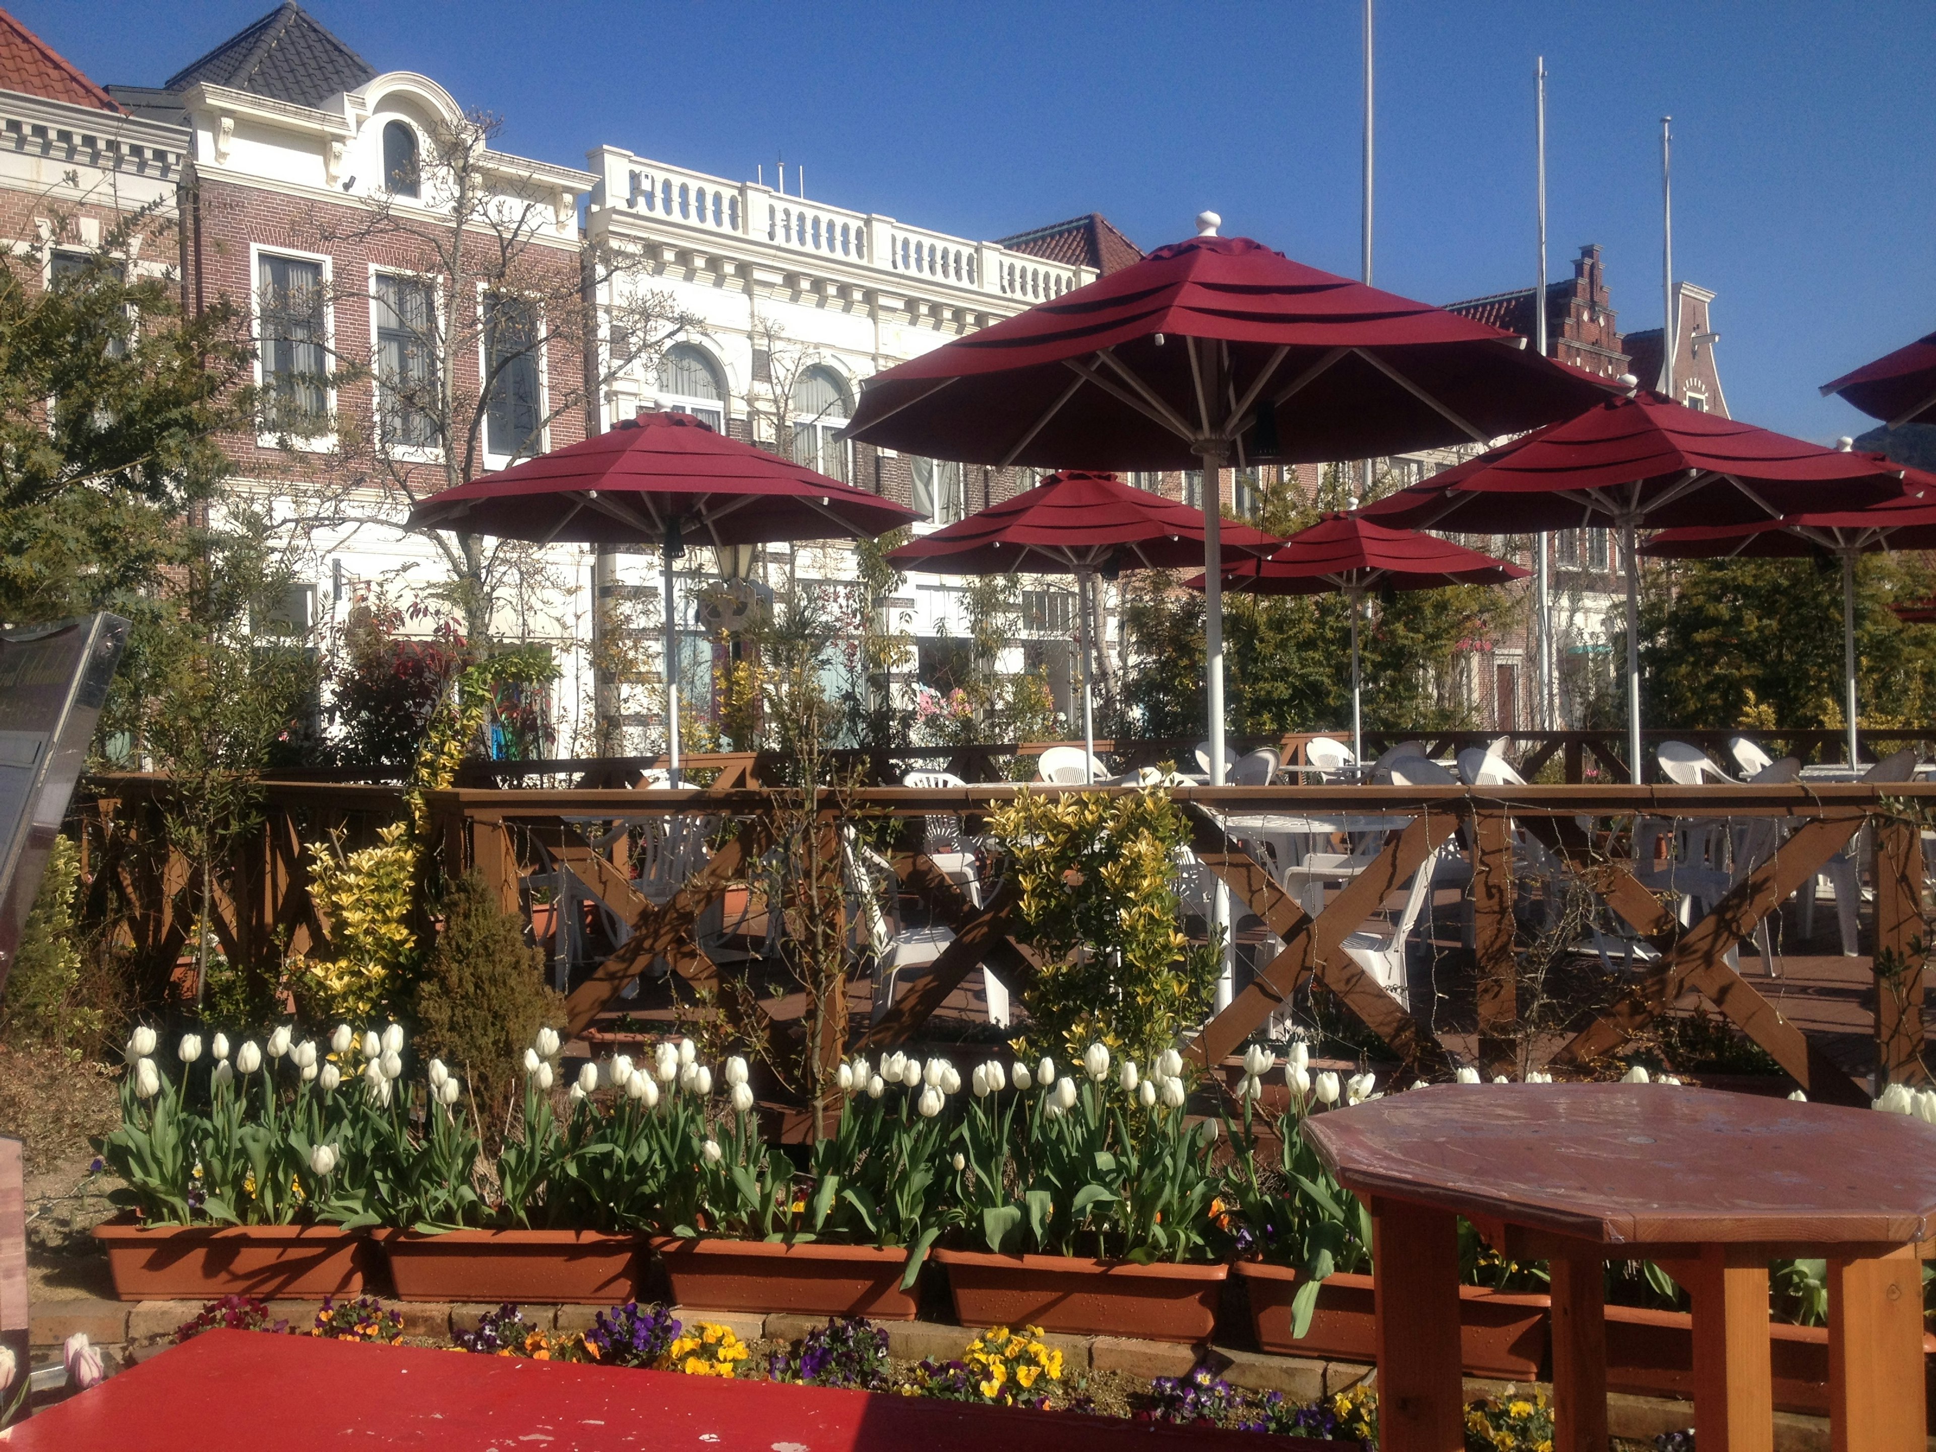
[[[1833,1452],[1921,1452],[1922,1262],[1913,1245],[1828,1262],[1828,1415]]]

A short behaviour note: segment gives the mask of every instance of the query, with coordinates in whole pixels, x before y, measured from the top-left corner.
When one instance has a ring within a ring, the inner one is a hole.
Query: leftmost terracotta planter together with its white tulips
[[[341,1028],[339,1038],[348,1030]],[[277,1028],[267,1044],[176,1042],[180,1078],[155,1061],[157,1034],[136,1028],[120,1082],[122,1123],[101,1156],[124,1181],[124,1214],[95,1227],[124,1301],[221,1295],[343,1295],[374,1270],[335,1206],[329,1136],[341,1071],[314,1042]],[[281,1080],[294,1080],[285,1092]],[[254,1090],[254,1092],[252,1092]]]

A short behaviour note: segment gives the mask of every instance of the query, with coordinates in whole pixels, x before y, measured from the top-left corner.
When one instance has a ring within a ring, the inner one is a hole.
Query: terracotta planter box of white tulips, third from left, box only
[[[900,1289],[908,1253],[891,1247],[654,1235],[652,1249],[681,1307],[873,1320],[914,1320],[920,1307],[912,1287]]]

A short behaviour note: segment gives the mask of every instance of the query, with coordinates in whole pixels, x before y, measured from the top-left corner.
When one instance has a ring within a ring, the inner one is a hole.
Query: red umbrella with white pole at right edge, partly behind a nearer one
[[[1857,765],[1855,558],[1876,550],[1936,550],[1936,474],[1907,470],[1903,494],[1868,509],[1787,515],[1754,525],[1669,529],[1640,546],[1640,554],[1661,560],[1831,556],[1841,563],[1843,714],[1851,767]]]

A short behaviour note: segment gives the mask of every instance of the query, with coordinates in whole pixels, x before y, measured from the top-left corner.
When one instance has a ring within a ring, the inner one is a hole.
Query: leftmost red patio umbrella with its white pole
[[[699,418],[647,412],[616,428],[434,494],[412,527],[538,544],[658,544],[666,592],[666,747],[680,769],[678,616],[672,561],[705,544],[871,538],[918,519],[778,455],[714,434]],[[678,776],[674,776],[678,780]]]

